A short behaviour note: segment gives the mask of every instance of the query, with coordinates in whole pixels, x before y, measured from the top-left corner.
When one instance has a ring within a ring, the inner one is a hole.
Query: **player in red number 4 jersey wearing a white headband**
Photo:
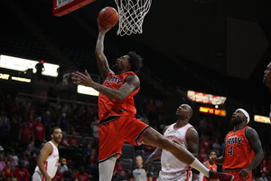
[[[247,126],[249,115],[246,110],[233,112],[231,123],[234,129],[224,139],[225,148],[221,157],[210,160],[222,165],[225,172],[235,176],[235,181],[250,181],[252,169],[263,159],[263,149],[255,129]]]

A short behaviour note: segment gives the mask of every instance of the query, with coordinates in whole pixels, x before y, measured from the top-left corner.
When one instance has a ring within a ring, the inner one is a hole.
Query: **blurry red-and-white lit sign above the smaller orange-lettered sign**
[[[224,104],[225,101],[227,100],[226,97],[216,96],[216,95],[202,93],[202,92],[193,91],[193,90],[187,91],[187,97],[188,99],[196,101],[196,102],[208,103],[212,105]]]

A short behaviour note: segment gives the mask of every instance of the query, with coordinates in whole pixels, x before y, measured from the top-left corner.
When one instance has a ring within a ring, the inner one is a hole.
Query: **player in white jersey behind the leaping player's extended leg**
[[[195,157],[199,151],[199,135],[196,129],[189,124],[192,118],[192,108],[187,104],[182,104],[176,111],[177,121],[164,129],[164,137],[173,140],[182,148],[189,150]],[[191,167],[167,150],[156,148],[150,157],[145,161],[145,165],[152,165],[153,160],[161,158],[161,171],[157,181],[182,180],[191,181]]]

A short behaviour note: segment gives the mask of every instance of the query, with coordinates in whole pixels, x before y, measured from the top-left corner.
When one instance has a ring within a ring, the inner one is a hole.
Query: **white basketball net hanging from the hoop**
[[[145,14],[150,10],[152,0],[115,0],[119,14],[117,35],[143,33]]]

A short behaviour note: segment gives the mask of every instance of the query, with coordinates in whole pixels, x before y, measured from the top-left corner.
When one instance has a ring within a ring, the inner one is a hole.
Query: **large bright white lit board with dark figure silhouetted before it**
[[[8,56],[1,54],[0,55],[0,67],[15,71],[26,71],[28,69],[33,69],[33,73],[36,72],[35,65],[39,61],[32,61],[28,59],[22,59],[18,57]],[[48,62],[43,62],[44,71],[42,71],[42,75],[57,77],[58,71],[57,69],[60,67],[57,64],[52,64]]]

